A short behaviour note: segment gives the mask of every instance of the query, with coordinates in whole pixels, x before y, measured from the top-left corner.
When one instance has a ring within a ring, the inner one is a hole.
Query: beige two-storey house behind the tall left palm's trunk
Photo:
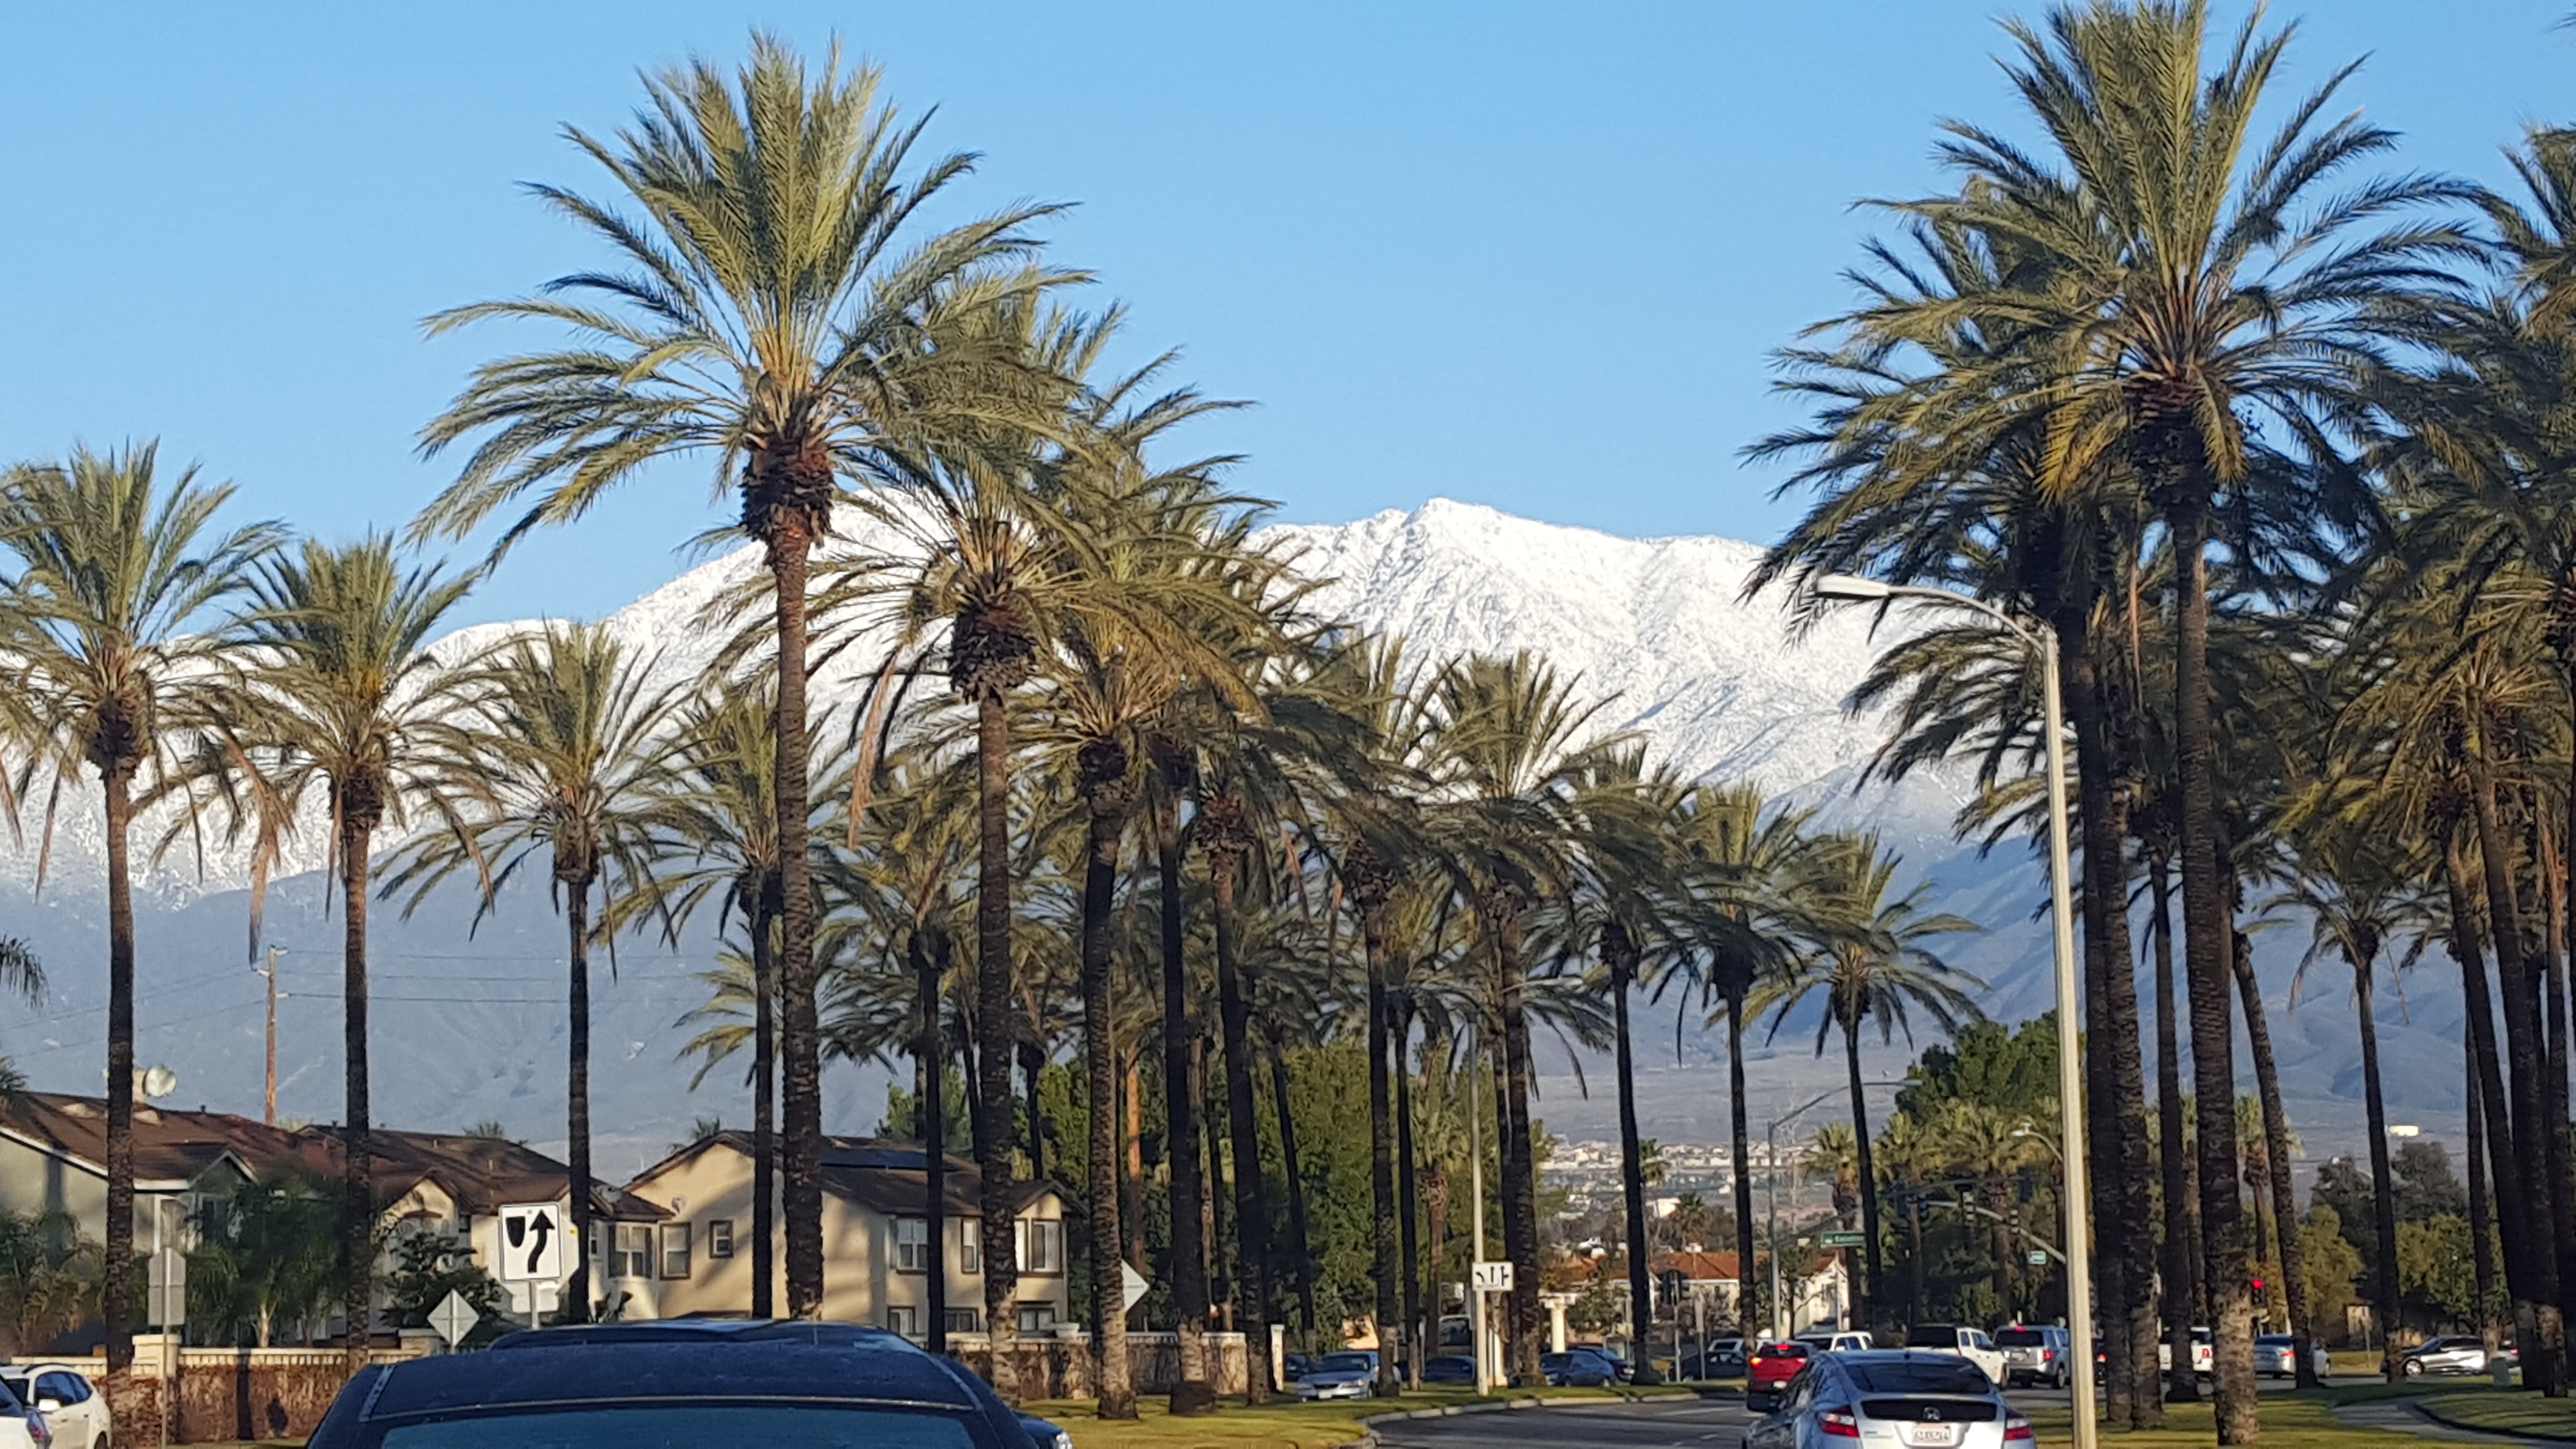
[[[925,1214],[927,1173],[917,1142],[824,1137],[822,1150],[822,1318],[876,1323],[920,1338],[930,1312],[930,1274],[948,1281],[948,1330],[984,1328],[984,1209],[979,1173],[948,1158],[940,1243],[930,1243]],[[716,1132],[626,1183],[626,1191],[662,1204],[659,1225],[618,1225],[611,1243],[616,1281],[649,1279],[649,1310],[665,1318],[750,1312],[752,1305],[752,1137]],[[1020,1333],[1046,1333],[1069,1323],[1064,1269],[1064,1189],[1023,1183],[1018,1204]],[[786,1227],[781,1217],[773,1258],[775,1305],[786,1307]],[[636,1305],[629,1307],[634,1312]]]

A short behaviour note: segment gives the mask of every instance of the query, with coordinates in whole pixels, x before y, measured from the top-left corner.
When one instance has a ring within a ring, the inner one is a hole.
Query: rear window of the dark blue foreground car
[[[706,1449],[744,1439],[819,1449],[976,1449],[966,1421],[951,1413],[775,1403],[459,1413],[389,1426],[374,1449]]]

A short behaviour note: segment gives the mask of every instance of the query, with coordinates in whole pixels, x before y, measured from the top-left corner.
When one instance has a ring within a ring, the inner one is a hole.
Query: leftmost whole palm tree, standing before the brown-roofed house
[[[8,804],[54,799],[98,771],[108,848],[108,1263],[100,1318],[108,1400],[131,1410],[134,1289],[134,792],[175,773],[183,740],[201,737],[227,694],[234,637],[209,614],[250,583],[278,544],[270,523],[219,529],[229,485],[196,469],[162,480],[157,446],[62,464],[21,464],[0,480],[0,657],[13,688],[0,730],[23,750]],[[52,851],[46,851],[52,853]],[[31,959],[13,967],[31,967]],[[26,969],[10,985],[33,980]]]

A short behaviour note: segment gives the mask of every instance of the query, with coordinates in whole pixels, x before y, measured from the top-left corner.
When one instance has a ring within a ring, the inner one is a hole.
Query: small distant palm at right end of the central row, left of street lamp
[[[1958,1031],[1976,1021],[1976,1000],[1965,987],[1981,987],[1976,977],[1940,959],[1924,941],[1976,931],[1973,920],[1924,910],[1932,884],[1919,882],[1906,895],[1893,895],[1901,856],[1880,851],[1875,833],[1832,835],[1816,853],[1816,874],[1808,882],[1814,895],[1814,938],[1793,957],[1777,977],[1754,987],[1754,1013],[1772,1011],[1772,1034],[1788,1021],[1808,995],[1826,998],[1816,1024],[1816,1055],[1826,1039],[1842,1029],[1842,1062],[1852,1088],[1852,1140],[1860,1155],[1860,1232],[1868,1276],[1857,1299],[1862,1320],[1880,1287],[1878,1243],[1878,1168],[1870,1160],[1870,1104],[1860,1078],[1860,1024],[1875,1018],[1878,1039],[1893,1042],[1896,1031],[1914,1042],[1914,1008],[1922,1008],[1942,1031]]]

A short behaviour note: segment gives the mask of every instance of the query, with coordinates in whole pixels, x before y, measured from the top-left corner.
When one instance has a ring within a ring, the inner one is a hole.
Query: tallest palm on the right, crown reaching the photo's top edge
[[[2447,286],[2470,255],[2452,227],[2388,224],[2393,211],[2465,199],[2432,178],[2367,180],[2318,204],[2329,175],[2393,147],[2360,116],[2324,121],[2352,67],[2293,103],[2269,142],[2254,111],[2287,44],[2249,18],[2215,72],[2202,64],[2205,0],[2087,0],[2045,26],[2009,23],[2007,62],[2043,147],[1947,124],[1945,160],[1968,186],[1906,201],[1935,227],[2017,237],[2048,253],[2045,286],[2014,289],[1986,315],[2038,358],[2066,456],[2120,456],[2156,505],[2179,565],[2174,743],[2184,967],[2202,1155],[2202,1253],[2218,1284],[2218,1439],[2257,1436],[2244,1212],[2228,1189],[2236,1098],[2228,1039],[2231,920],[2218,841],[2215,722],[2208,668],[2213,511],[2249,474],[2251,415],[2324,446],[2352,418],[2360,374],[2378,366],[2411,291]],[[1917,325],[1945,327],[1937,309]],[[2004,382],[2004,387],[1994,387]],[[2004,405],[2027,397],[1996,374],[1960,376]]]

